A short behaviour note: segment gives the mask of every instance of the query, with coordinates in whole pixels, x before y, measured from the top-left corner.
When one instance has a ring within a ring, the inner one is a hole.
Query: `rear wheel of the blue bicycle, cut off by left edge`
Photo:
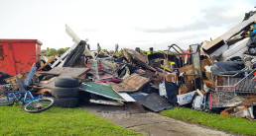
[[[0,105],[11,105],[14,102],[20,101],[22,97],[18,91],[5,91],[0,94]]]

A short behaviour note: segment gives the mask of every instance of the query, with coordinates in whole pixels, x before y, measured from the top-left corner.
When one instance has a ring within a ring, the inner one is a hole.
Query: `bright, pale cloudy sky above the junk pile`
[[[65,24],[92,49],[165,50],[214,39],[256,10],[255,0],[0,0],[0,38],[70,47]]]

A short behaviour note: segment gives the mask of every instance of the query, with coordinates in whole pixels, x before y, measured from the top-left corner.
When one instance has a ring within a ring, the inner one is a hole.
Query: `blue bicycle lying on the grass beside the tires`
[[[54,99],[44,97],[44,94],[34,97],[30,90],[26,92],[4,91],[0,94],[0,105],[12,105],[14,102],[22,102],[25,111],[37,113],[52,107]]]

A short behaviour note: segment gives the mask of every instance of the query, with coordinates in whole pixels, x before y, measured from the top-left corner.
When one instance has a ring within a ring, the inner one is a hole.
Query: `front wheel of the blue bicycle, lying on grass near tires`
[[[43,97],[32,102],[25,103],[23,109],[31,113],[37,113],[49,109],[53,104],[54,99]]]

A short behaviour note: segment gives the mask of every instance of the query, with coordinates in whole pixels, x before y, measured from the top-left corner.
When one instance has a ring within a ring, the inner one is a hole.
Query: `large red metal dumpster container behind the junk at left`
[[[29,72],[41,61],[41,45],[37,39],[0,39],[0,71],[12,76]]]

